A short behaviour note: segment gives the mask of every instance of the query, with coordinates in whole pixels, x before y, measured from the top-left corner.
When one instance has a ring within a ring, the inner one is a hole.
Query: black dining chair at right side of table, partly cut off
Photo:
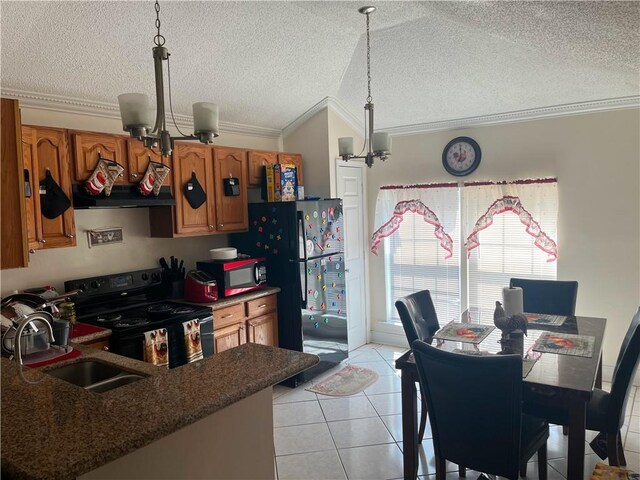
[[[607,392],[599,388],[594,389],[587,404],[587,430],[601,432],[601,434],[606,435],[606,456],[609,457],[609,465],[625,466],[627,464],[622,448],[620,429],[624,425],[629,390],[638,369],[639,358],[640,308],[638,308],[631,320],[631,325],[629,325],[627,334],[620,346],[613,377],[611,378],[611,391]],[[560,406],[549,405],[549,403],[536,403],[535,398],[527,399],[524,409],[528,413],[545,418],[550,423],[568,425],[569,412]]]

